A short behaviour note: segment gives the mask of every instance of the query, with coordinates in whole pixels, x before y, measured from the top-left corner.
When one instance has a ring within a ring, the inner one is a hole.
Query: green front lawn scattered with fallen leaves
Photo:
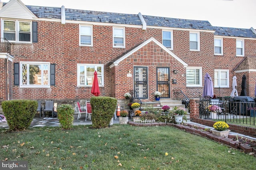
[[[0,159],[26,160],[32,170],[256,169],[252,155],[169,126],[44,127],[0,136]]]

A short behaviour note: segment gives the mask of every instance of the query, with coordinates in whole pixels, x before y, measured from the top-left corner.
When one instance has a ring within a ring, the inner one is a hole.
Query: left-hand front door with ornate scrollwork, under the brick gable
[[[148,98],[148,68],[134,67],[134,97]]]

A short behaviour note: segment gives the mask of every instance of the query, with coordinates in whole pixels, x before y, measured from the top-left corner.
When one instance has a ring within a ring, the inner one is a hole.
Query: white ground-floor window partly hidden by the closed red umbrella
[[[94,71],[97,71],[98,83],[100,87],[104,86],[104,66],[94,64],[78,64],[77,84],[78,86],[92,86],[94,80]]]

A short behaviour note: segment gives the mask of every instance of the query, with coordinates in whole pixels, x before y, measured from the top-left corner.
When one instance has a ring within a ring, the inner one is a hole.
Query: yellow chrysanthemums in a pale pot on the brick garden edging
[[[228,133],[230,130],[228,130],[229,126],[226,122],[217,121],[213,124],[213,128],[214,129],[211,129],[211,131],[214,135],[228,137]]]

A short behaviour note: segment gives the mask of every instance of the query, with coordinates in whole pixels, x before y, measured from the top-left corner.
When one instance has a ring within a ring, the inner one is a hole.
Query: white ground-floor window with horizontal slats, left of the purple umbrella
[[[202,87],[202,68],[187,67],[186,69],[187,87]]]

